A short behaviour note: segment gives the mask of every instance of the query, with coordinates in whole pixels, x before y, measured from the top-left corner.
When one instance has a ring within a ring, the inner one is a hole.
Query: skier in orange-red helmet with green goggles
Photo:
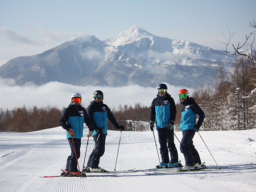
[[[195,132],[198,132],[199,128],[203,123],[205,114],[199,105],[195,102],[195,99],[189,97],[188,90],[182,89],[179,91],[179,99],[182,104],[181,107],[181,124],[180,129],[182,131],[182,139],[180,149],[185,158],[185,166],[183,170],[198,169],[202,168],[201,159],[198,152],[193,145],[193,137]],[[199,116],[196,122],[196,115]],[[195,166],[195,164],[198,164]]]

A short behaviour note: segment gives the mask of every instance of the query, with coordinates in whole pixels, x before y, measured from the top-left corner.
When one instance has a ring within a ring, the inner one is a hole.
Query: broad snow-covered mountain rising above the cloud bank
[[[212,81],[215,66],[234,56],[185,40],[158,37],[138,26],[100,41],[83,36],[41,54],[17,57],[0,67],[0,76],[17,84],[50,81],[73,85],[155,87],[160,82],[193,87]]]

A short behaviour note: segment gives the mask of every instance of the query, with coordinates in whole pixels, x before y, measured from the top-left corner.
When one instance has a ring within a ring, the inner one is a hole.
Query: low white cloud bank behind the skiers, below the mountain
[[[163,82],[160,82],[163,83]],[[172,95],[175,102],[178,102],[178,91],[184,87],[175,87],[168,85],[168,92]],[[92,94],[95,90],[101,90],[104,93],[104,103],[110,108],[117,108],[118,105],[124,106],[141,103],[145,106],[151,106],[152,100],[156,97],[157,90],[152,87],[140,87],[139,85],[128,85],[123,87],[100,87],[100,86],[74,86],[60,82],[49,82],[45,85],[37,86],[26,84],[18,86],[12,79],[0,78],[0,100],[3,110],[9,110],[14,107],[27,108],[37,106],[46,107],[47,105],[62,109],[67,107],[71,101],[71,94],[80,92],[82,95],[82,105],[88,107],[93,100]],[[189,88],[187,88],[189,89]],[[191,89],[189,89],[192,92]]]

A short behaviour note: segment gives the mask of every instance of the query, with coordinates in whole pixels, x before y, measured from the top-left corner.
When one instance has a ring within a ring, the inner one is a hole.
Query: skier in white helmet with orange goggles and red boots
[[[67,158],[66,168],[62,170],[65,174],[80,175],[77,169],[77,159],[80,157],[81,137],[83,136],[84,122],[92,129],[91,119],[88,117],[85,108],[81,106],[82,96],[80,93],[71,95],[71,103],[63,111],[60,118],[60,125],[66,130],[66,136],[71,148],[71,155]],[[72,141],[72,136],[73,141]],[[73,145],[74,142],[74,145]],[[74,148],[75,146],[75,148]],[[75,156],[77,155],[77,158]]]

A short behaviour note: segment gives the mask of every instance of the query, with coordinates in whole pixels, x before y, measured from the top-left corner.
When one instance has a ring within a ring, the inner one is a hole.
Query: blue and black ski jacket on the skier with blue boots
[[[150,121],[155,122],[156,117],[156,129],[168,127],[169,122],[175,121],[176,112],[174,99],[169,93],[166,92],[164,97],[157,94],[151,104]]]

